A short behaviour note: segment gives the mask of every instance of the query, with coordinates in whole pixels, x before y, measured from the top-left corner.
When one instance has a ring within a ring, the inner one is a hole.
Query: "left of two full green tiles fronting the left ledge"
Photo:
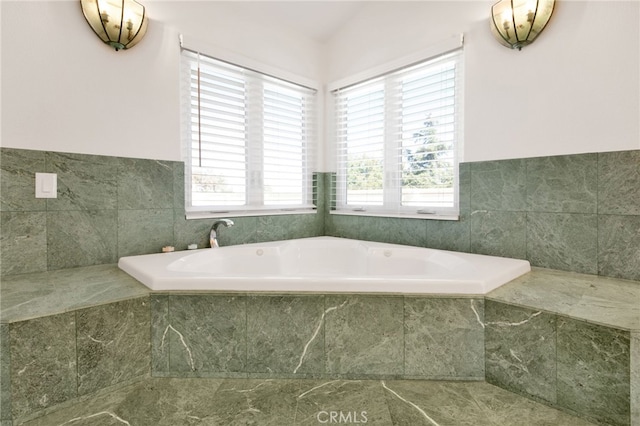
[[[12,323],[9,338],[14,419],[77,395],[75,314]]]

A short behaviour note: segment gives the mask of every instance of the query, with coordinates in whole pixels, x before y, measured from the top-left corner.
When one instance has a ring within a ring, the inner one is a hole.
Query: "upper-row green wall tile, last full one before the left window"
[[[174,163],[120,158],[118,209],[172,209]]]

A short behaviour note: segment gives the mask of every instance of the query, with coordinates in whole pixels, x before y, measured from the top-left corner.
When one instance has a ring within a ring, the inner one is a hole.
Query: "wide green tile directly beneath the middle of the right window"
[[[361,217],[360,240],[424,247],[427,222],[422,219]]]

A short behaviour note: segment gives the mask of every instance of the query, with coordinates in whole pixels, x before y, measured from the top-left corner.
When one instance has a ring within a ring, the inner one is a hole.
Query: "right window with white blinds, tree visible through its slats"
[[[461,57],[457,49],[334,91],[337,213],[455,218]]]

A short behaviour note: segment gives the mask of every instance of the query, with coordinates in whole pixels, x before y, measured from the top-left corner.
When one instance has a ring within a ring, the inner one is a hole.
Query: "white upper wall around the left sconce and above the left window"
[[[180,160],[178,34],[320,80],[320,45],[225,2],[143,1],[145,38],[115,52],[80,2],[0,1],[5,147]]]

